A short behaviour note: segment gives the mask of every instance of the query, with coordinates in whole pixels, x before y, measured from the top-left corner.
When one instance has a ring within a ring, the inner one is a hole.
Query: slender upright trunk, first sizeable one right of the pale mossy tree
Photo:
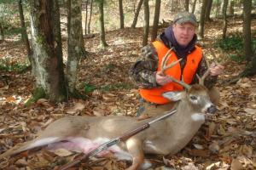
[[[100,18],[99,18],[99,22],[100,22],[100,38],[101,38],[101,42],[100,42],[100,48],[106,48],[108,46],[106,39],[105,39],[105,26],[104,26],[104,0],[100,0],[98,2],[99,5],[99,11],[100,11]]]

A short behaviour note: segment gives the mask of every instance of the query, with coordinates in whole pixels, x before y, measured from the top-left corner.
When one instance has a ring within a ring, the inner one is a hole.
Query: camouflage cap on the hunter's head
[[[195,18],[195,14],[189,12],[181,12],[175,15],[173,23],[183,24],[186,22],[190,22],[194,26],[197,26],[197,21]]]

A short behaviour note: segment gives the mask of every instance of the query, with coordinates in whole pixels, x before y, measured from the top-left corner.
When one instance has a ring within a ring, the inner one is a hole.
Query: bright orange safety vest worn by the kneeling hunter
[[[159,62],[157,71],[161,70],[161,62],[163,57],[166,55],[169,48],[166,48],[163,42],[155,41],[152,43],[156,52],[158,54]],[[167,65],[177,60],[177,55],[172,51],[172,56],[167,61]],[[201,62],[202,58],[202,50],[198,46],[195,46],[195,50],[187,56],[186,65],[183,68],[183,81],[187,84],[190,84],[195,76],[195,72],[198,68],[198,65]],[[165,71],[166,75],[169,75],[177,80],[181,80],[181,66],[178,63],[177,65],[172,66]],[[169,103],[170,100],[162,97],[162,94],[167,91],[181,91],[183,87],[175,82],[170,82],[165,84],[164,86],[158,88],[141,88],[139,90],[143,99],[148,102],[152,102],[155,104],[166,104]]]

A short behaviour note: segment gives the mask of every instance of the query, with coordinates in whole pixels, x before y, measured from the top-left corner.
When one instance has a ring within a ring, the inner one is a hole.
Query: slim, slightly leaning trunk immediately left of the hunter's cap
[[[153,23],[153,29],[151,34],[151,42],[154,42],[155,38],[157,37],[159,17],[160,17],[160,6],[161,6],[161,0],[155,0],[154,23]]]

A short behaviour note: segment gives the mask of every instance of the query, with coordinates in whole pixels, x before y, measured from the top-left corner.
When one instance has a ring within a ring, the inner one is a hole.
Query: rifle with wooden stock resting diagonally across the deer
[[[67,163],[66,165],[62,166],[59,168],[59,170],[67,170],[67,168],[73,167],[77,164],[79,164],[80,161],[83,160],[88,160],[90,157],[92,156],[96,156],[98,153],[101,153],[103,150],[107,150],[110,146],[113,146],[114,144],[118,144],[119,142],[124,142],[125,140],[131,138],[131,136],[142,132],[143,130],[147,129],[148,127],[150,127],[151,124],[153,124],[154,122],[158,122],[162,119],[165,119],[168,116],[171,116],[172,114],[174,114],[176,112],[176,110],[173,110],[169,113],[166,113],[163,116],[160,116],[156,119],[154,119],[151,122],[146,122],[145,124],[143,124],[141,127],[137,127],[129,132],[124,133],[123,135],[121,135],[120,137],[117,137],[115,139],[111,139],[108,142],[99,145],[98,147],[96,147],[96,149],[91,150],[87,155],[83,155],[83,156],[79,156],[78,158],[74,159],[73,161]]]

